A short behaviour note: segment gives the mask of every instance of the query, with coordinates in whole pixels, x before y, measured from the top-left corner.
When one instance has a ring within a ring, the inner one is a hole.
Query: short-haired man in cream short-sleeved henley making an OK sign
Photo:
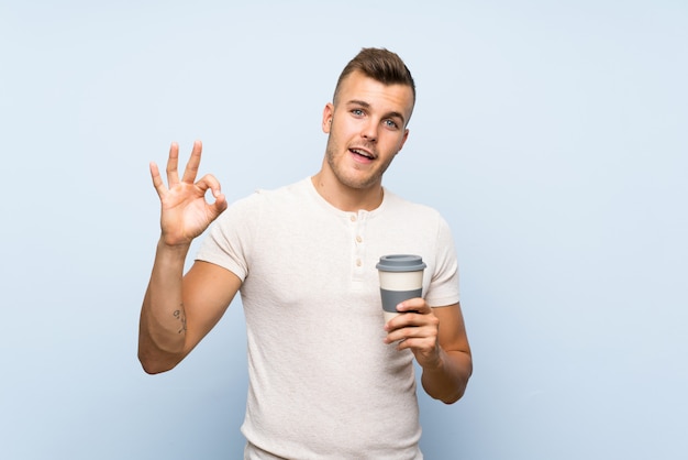
[[[364,48],[323,110],[329,136],[314,176],[228,207],[213,176],[196,182],[200,142],[181,179],[173,144],[168,187],[151,164],[162,236],[138,358],[148,373],[174,368],[241,292],[246,459],[422,459],[413,359],[429,395],[452,404],[464,394],[471,357],[450,229],[381,183],[414,102],[399,56]],[[217,218],[184,275],[191,241]],[[419,254],[428,267],[424,298],[399,304],[406,314],[385,324],[376,263],[390,253]]]

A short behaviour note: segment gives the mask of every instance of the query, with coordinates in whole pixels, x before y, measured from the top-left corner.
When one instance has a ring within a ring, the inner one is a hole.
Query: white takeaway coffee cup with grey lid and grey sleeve
[[[397,311],[397,304],[409,298],[420,297],[423,289],[425,263],[420,255],[382,255],[376,265],[380,275],[380,295],[385,322]]]

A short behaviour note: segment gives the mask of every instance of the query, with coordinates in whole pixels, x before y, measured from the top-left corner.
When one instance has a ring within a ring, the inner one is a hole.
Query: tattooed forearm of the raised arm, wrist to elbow
[[[181,296],[189,247],[158,242],[151,282],[141,308],[138,360],[148,373],[174,368],[185,353],[186,311]]]

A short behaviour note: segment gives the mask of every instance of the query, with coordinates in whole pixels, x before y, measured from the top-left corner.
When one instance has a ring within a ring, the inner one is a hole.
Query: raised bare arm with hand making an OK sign
[[[166,169],[169,188],[165,187],[157,165],[151,164],[162,211],[160,239],[138,330],[138,359],[148,373],[177,365],[218,322],[241,285],[232,273],[207,263],[196,263],[184,276],[191,241],[228,206],[213,176],[195,183],[201,150],[197,141],[179,179],[179,147],[171,145]],[[206,201],[209,189],[214,196],[212,204]],[[221,283],[217,283],[219,278]]]

